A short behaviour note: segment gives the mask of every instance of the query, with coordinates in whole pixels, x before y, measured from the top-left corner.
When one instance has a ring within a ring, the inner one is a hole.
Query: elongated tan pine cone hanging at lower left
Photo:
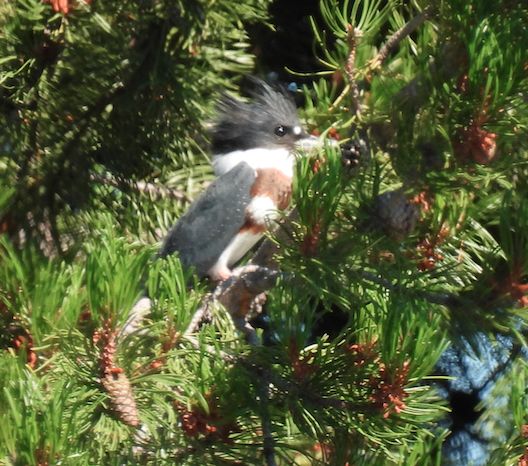
[[[109,370],[103,377],[102,383],[110,394],[112,404],[123,422],[129,426],[137,427],[139,425],[139,412],[130,381],[123,370],[118,367]]]

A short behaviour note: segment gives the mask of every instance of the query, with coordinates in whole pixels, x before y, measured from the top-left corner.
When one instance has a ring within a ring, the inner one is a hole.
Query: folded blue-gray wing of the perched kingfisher
[[[169,231],[160,257],[177,251],[184,267],[205,276],[244,224],[255,177],[241,162],[215,179]]]

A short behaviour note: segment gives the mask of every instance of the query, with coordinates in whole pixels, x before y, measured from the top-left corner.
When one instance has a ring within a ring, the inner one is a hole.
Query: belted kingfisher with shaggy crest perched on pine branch
[[[296,148],[314,145],[282,90],[257,81],[251,103],[224,96],[212,130],[217,178],[169,231],[160,251],[225,280],[290,203]]]

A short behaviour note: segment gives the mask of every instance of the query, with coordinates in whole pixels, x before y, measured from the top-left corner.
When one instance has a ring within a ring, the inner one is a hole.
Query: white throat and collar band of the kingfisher
[[[255,170],[259,168],[276,168],[286,176],[293,178],[295,156],[288,149],[255,148],[215,155],[212,160],[215,175],[221,176],[227,173],[240,162],[246,162]]]

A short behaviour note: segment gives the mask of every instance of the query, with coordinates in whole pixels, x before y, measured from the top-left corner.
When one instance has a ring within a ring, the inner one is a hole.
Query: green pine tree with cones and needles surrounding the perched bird
[[[268,3],[0,4],[0,464],[462,464],[449,355],[528,464],[520,2],[321,0],[292,80],[341,147],[229,283],[152,260]]]

